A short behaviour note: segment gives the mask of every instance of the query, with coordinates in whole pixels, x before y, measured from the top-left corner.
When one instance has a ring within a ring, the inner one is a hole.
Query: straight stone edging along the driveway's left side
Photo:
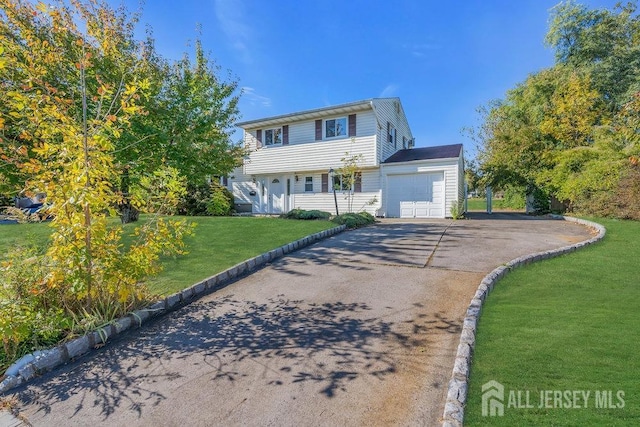
[[[93,348],[102,346],[116,335],[134,326],[141,326],[153,317],[176,310],[177,308],[188,304],[207,293],[224,287],[238,277],[257,270],[285,254],[302,249],[322,239],[338,234],[344,231],[345,228],[345,225],[340,225],[280,246],[279,248],[234,265],[233,267],[198,282],[193,286],[183,289],[180,292],[169,295],[147,308],[136,310],[97,331],[83,335],[49,350],[35,351],[33,354],[27,354],[7,369],[4,379],[0,382],[0,394],[17,387],[38,375],[42,375],[53,368],[72,361],[77,357],[88,353]]]

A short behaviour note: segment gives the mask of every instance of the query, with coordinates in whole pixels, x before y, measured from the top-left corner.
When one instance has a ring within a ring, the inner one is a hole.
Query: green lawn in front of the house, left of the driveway
[[[164,270],[149,279],[154,293],[166,295],[184,289],[248,258],[335,226],[329,221],[266,217],[189,219],[197,224],[195,235],[186,240],[189,253],[162,260]],[[133,229],[133,224],[127,229]],[[0,254],[18,241],[45,244],[49,230],[46,223],[0,225]]]

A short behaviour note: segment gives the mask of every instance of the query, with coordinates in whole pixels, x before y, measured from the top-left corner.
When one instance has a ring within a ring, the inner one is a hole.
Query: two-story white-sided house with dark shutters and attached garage
[[[444,218],[464,197],[462,145],[413,148],[398,98],[374,98],[237,124],[249,155],[229,180],[239,211],[291,209]],[[357,157],[348,188],[337,171]],[[336,191],[334,197],[334,189]],[[352,197],[349,200],[348,193]]]

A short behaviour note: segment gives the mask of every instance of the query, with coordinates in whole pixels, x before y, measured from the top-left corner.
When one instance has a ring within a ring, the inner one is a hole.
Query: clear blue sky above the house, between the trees
[[[462,129],[478,124],[477,107],[553,64],[543,40],[557,3],[147,0],[141,23],[172,59],[189,49],[200,24],[221,74],[244,88],[242,120],[397,96],[416,146],[464,143],[473,154]],[[136,0],[126,4],[138,9]]]

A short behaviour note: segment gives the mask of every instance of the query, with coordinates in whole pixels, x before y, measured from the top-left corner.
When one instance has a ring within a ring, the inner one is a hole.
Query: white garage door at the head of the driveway
[[[387,215],[444,218],[444,172],[389,175]]]

